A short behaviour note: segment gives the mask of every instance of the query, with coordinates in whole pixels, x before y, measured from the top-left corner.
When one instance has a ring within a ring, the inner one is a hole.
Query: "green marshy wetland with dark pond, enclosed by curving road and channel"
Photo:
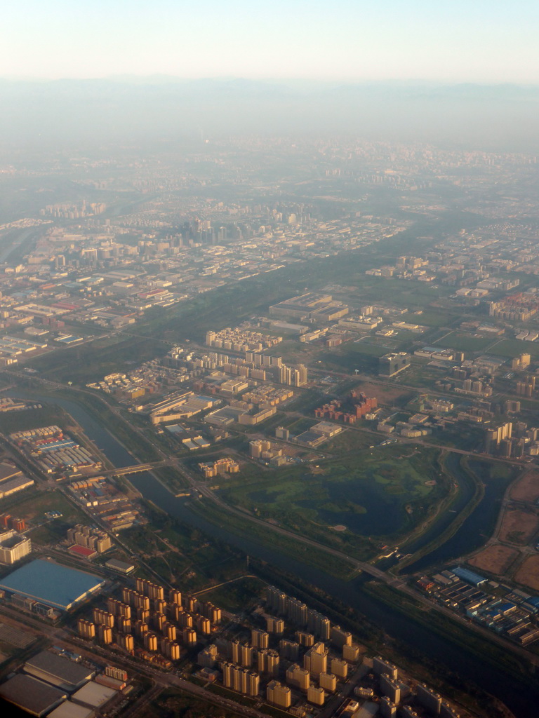
[[[399,446],[278,471],[249,467],[222,482],[220,495],[296,533],[364,554],[361,537],[402,536],[425,521],[446,495],[437,457],[434,449]],[[427,485],[429,479],[436,484]]]

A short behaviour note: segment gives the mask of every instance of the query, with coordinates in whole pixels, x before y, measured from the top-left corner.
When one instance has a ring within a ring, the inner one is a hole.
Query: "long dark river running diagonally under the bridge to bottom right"
[[[9,391],[8,396],[51,403],[50,397],[42,396],[37,392]],[[109,432],[86,413],[82,406],[64,399],[55,399],[54,401],[78,421],[88,438],[102,449],[115,466],[122,467],[137,463]],[[129,477],[129,480],[144,498],[151,500],[171,516],[175,516],[215,538],[226,541],[226,543],[238,546],[251,556],[257,556],[259,559],[290,572],[290,574],[295,574],[353,607],[372,623],[382,627],[388,635],[413,645],[415,649],[423,653],[425,661],[438,661],[450,671],[463,676],[464,679],[473,681],[485,691],[496,696],[514,712],[517,718],[532,718],[538,714],[539,690],[531,687],[525,676],[522,676],[520,680],[507,676],[502,669],[495,668],[482,661],[481,658],[462,651],[451,641],[446,641],[443,637],[431,633],[428,628],[423,628],[405,615],[393,612],[390,607],[367,595],[361,589],[361,577],[355,581],[344,582],[309,567],[301,561],[292,559],[286,554],[281,554],[275,549],[264,546],[257,541],[256,527],[253,528],[252,538],[249,540],[240,538],[223,526],[216,526],[199,516],[190,508],[189,499],[175,498],[148,472],[134,474]],[[305,551],[308,550],[308,547],[305,547]]]

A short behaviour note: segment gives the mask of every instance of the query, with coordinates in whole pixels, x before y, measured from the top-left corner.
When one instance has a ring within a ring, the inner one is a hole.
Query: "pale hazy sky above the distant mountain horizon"
[[[539,0],[18,0],[11,78],[539,83]]]

